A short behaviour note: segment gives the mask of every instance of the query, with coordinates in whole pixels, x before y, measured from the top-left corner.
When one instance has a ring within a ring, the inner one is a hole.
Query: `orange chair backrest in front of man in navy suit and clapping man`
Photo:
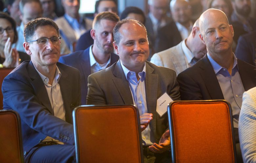
[[[139,112],[135,106],[78,106],[73,120],[77,162],[143,162]]]

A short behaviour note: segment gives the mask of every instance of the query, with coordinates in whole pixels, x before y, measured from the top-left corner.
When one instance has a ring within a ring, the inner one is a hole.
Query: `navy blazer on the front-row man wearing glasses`
[[[72,111],[80,105],[80,75],[77,69],[57,63],[65,121],[53,115],[45,85],[31,61],[24,61],[3,81],[4,109],[19,113],[24,156],[46,136],[75,144]],[[8,122],[7,122],[8,123]]]

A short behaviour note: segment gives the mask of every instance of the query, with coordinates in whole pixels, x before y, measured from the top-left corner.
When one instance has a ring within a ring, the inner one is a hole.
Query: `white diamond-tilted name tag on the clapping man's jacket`
[[[160,117],[167,112],[167,106],[172,101],[172,98],[166,92],[157,99],[157,113]]]

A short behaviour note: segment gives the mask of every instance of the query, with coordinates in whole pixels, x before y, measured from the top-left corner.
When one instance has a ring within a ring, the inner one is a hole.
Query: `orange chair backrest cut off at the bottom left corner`
[[[12,110],[0,110],[0,162],[23,163],[20,117]]]

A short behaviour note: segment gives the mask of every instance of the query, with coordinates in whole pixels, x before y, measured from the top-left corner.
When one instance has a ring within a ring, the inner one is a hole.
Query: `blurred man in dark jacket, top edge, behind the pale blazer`
[[[167,15],[168,6],[169,0],[148,0],[149,14],[145,27],[148,31],[149,44],[153,46],[150,56],[175,46],[182,40],[174,21]],[[164,38],[160,38],[160,33]]]

